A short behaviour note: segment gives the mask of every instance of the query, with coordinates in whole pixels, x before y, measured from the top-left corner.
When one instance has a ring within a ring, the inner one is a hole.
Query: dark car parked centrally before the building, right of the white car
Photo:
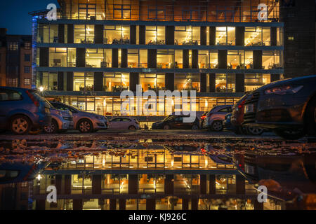
[[[189,116],[176,115],[171,116],[168,119],[164,119],[157,123],[152,124],[152,130],[170,130],[170,129],[191,129],[198,130],[199,129],[199,118],[195,118],[195,121],[192,123],[183,123],[183,118]]]

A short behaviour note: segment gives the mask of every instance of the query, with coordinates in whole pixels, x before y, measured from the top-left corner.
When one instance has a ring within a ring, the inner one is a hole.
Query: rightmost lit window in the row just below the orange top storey
[[[270,27],[245,27],[244,45],[270,45]]]

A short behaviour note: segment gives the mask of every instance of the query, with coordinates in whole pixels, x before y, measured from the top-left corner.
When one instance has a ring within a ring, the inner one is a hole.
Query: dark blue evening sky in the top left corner
[[[0,27],[8,34],[32,34],[32,16],[29,12],[46,9],[57,0],[0,0]]]

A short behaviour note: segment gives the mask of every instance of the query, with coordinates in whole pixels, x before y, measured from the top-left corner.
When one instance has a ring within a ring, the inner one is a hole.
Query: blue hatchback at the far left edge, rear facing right
[[[0,129],[28,134],[51,123],[51,106],[35,90],[0,87]]]

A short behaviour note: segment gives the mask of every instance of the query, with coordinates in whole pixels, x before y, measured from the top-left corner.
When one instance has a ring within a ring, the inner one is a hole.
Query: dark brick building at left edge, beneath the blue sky
[[[31,88],[32,36],[8,35],[0,28],[0,86]]]

